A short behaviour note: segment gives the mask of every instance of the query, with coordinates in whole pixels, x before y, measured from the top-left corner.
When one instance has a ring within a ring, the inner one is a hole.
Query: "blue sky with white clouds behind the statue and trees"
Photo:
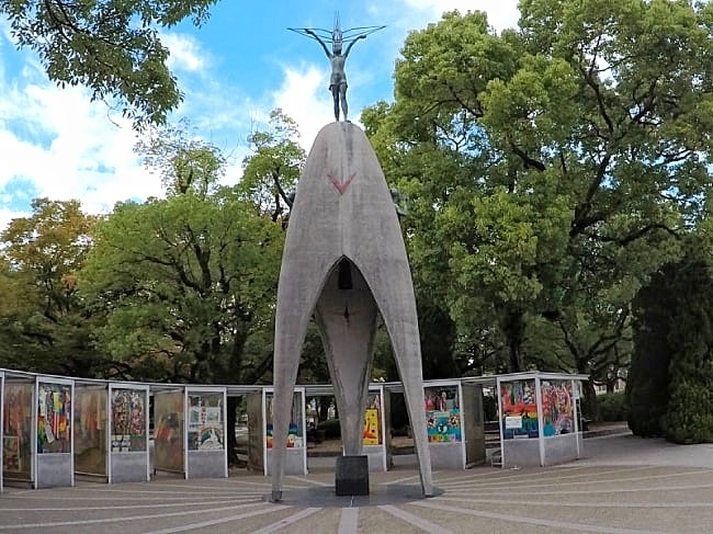
[[[170,122],[190,121],[197,135],[228,157],[226,183],[240,178],[247,136],[281,107],[299,125],[309,149],[333,121],[329,65],[319,45],[290,32],[386,24],[354,45],[347,63],[350,118],[378,100],[393,100],[394,61],[409,31],[438,22],[444,11],[485,10],[496,30],[514,26],[517,0],[222,0],[200,29],[183,23],[162,34],[184,93]],[[79,198],[88,213],[117,201],[161,196],[160,178],[143,168],[136,135],[82,88],[59,89],[32,52],[18,52],[0,20],[0,229],[25,216],[37,196]]]

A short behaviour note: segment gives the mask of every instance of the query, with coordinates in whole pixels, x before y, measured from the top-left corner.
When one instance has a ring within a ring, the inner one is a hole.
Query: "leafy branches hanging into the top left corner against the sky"
[[[201,25],[216,0],[2,0],[19,47],[57,84],[84,86],[137,126],[166,122],[181,101],[158,29]]]

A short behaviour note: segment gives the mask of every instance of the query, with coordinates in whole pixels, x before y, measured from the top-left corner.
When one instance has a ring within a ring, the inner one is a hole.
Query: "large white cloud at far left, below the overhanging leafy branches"
[[[160,180],[133,152],[131,124],[90,102],[87,90],[57,88],[34,61],[12,82],[0,75],[0,228],[26,215],[11,206],[29,205],[30,195],[79,198],[84,211],[101,213],[121,200],[161,194]]]

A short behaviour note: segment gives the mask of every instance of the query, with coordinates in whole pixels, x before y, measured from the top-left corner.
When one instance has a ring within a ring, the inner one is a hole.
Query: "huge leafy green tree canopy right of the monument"
[[[461,338],[502,342],[522,371],[542,361],[524,350],[545,319],[570,352],[557,365],[589,373],[621,357],[633,296],[704,213],[713,9],[520,9],[520,30],[499,35],[479,12],[411,33],[395,102],[363,117],[410,197],[417,285],[440,295]]]

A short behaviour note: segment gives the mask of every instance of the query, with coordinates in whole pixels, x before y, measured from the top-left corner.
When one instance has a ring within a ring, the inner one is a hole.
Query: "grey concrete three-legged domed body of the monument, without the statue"
[[[342,272],[340,284],[342,260],[349,272]],[[274,348],[274,500],[281,497],[290,404],[310,316],[315,313],[326,340],[340,418],[344,418],[347,454],[360,454],[376,308],[391,336],[404,384],[421,487],[430,495],[418,321],[400,226],[366,136],[351,123],[332,123],[319,132],[305,163],[280,273]]]

